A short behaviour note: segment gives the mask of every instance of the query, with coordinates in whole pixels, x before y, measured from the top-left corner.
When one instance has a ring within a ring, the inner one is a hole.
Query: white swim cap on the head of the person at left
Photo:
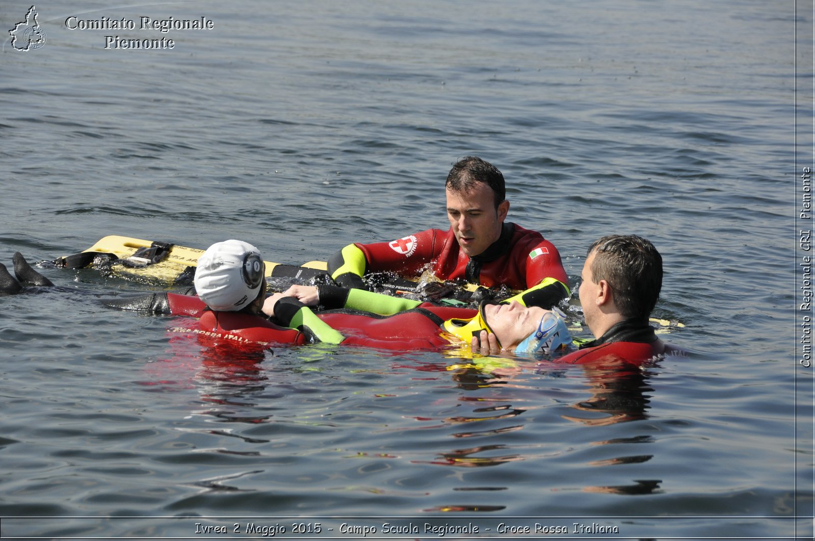
[[[258,298],[264,264],[260,252],[242,240],[217,242],[198,258],[196,292],[213,310],[237,311]]]

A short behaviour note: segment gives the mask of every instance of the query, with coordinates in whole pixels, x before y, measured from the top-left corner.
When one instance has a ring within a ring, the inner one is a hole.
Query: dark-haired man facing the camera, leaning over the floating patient
[[[429,268],[441,280],[521,290],[512,298],[523,306],[551,308],[569,296],[569,279],[554,245],[536,231],[504,222],[509,201],[496,167],[468,156],[447,175],[446,191],[449,230],[349,244],[328,259],[328,273],[337,284],[365,288],[366,273],[419,276]]]

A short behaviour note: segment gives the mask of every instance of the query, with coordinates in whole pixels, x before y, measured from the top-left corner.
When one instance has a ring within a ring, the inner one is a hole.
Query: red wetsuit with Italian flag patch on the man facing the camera
[[[514,223],[504,223],[500,238],[474,257],[461,251],[452,229],[428,229],[392,242],[352,246],[359,251],[347,251],[346,247],[328,260],[328,273],[346,287],[365,287],[359,275],[362,267],[364,273],[394,272],[416,277],[430,265],[438,279],[462,280],[487,288],[504,285],[527,290],[544,279],[560,283],[526,293],[518,299],[526,306],[551,308],[568,295],[569,279],[554,244],[540,233]],[[349,261],[356,257],[364,257],[364,261]]]

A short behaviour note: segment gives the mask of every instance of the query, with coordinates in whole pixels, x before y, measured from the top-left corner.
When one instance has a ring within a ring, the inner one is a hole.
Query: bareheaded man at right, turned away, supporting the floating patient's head
[[[649,324],[662,288],[662,256],[637,235],[608,235],[589,248],[579,286],[586,325],[595,339],[557,363],[640,364],[684,350],[659,340]],[[500,347],[483,336],[483,354]]]

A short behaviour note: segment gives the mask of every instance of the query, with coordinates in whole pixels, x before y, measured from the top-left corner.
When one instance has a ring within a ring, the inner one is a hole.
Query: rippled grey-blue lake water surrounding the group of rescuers
[[[3,31],[29,7],[2,2]],[[2,536],[811,537],[795,269],[812,7],[37,3],[46,43],[7,40],[0,64],[7,266],[104,235],[324,259],[447,227],[444,178],[474,154],[573,286],[597,237],[652,240],[654,315],[692,355],[628,376],[319,345],[224,357],[98,304],[148,284],[42,269],[55,288],[0,297]]]

